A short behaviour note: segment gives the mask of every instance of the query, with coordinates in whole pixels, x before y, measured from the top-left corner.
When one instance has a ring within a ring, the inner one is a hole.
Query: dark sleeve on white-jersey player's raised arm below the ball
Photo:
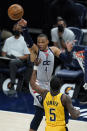
[[[27,46],[31,48],[34,42],[32,40],[32,37],[30,36],[29,29],[27,27],[24,27],[22,30],[23,30],[24,40],[26,41]]]

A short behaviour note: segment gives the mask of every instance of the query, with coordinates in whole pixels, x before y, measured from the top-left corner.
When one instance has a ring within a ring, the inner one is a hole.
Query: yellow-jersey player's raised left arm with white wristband
[[[48,92],[48,90],[42,89],[39,85],[36,84],[36,73],[37,73],[36,68],[37,66],[35,66],[35,69],[33,70],[31,80],[30,80],[30,85],[37,93],[39,93],[43,97],[44,94]]]

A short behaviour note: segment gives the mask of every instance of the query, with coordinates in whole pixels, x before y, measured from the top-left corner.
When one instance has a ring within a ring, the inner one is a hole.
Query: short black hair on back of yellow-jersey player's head
[[[51,81],[50,81],[50,87],[52,91],[58,91],[62,85],[61,79],[58,78],[57,76],[52,76]]]

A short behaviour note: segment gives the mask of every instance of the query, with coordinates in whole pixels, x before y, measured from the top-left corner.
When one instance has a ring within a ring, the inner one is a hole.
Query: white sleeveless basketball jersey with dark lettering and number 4
[[[39,51],[38,58],[41,58],[41,63],[37,70],[37,80],[40,82],[48,82],[51,79],[54,68],[54,54],[51,49],[47,51]]]

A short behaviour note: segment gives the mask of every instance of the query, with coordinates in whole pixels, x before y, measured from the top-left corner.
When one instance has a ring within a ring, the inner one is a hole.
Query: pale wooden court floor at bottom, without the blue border
[[[31,114],[0,110],[0,131],[29,131],[32,118]],[[87,131],[87,122],[70,120],[68,129],[69,131]],[[45,131],[45,117],[38,131]]]

